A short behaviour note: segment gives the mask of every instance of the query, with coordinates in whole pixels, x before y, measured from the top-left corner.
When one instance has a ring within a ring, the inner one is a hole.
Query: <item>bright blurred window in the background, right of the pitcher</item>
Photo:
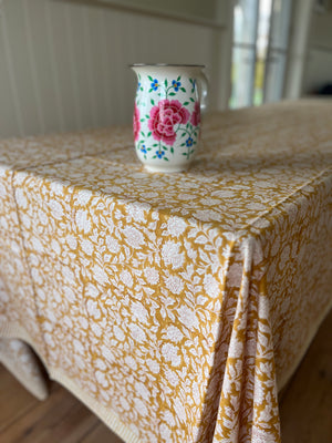
[[[230,107],[282,97],[290,14],[291,0],[237,0]]]

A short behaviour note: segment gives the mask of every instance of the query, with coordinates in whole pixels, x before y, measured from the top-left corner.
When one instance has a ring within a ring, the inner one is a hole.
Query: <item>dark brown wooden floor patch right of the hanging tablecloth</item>
[[[283,443],[332,442],[332,311],[280,405]]]

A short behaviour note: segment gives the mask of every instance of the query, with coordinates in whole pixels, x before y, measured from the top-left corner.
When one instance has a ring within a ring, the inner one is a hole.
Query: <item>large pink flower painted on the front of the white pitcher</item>
[[[172,146],[176,140],[175,126],[186,124],[189,111],[178,100],[162,100],[151,110],[148,128],[153,137]]]

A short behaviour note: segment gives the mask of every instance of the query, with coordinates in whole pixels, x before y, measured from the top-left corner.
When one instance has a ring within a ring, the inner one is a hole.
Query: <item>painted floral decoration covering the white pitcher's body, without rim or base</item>
[[[141,112],[134,134],[138,157],[163,163],[175,163],[179,156],[180,163],[189,161],[196,152],[200,122],[195,80],[137,75],[136,106]]]

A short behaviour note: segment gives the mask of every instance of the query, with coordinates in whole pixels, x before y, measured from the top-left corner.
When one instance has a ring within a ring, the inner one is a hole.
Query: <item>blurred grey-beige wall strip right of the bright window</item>
[[[332,3],[326,12],[313,11],[303,92],[312,93],[325,83],[332,83]]]

